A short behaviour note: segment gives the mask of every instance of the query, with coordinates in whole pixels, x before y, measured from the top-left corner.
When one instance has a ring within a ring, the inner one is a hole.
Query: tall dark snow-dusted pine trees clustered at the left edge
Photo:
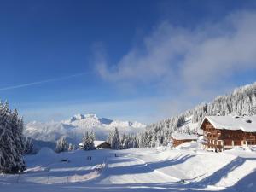
[[[0,172],[15,173],[26,169],[23,160],[23,121],[18,112],[0,102]]]

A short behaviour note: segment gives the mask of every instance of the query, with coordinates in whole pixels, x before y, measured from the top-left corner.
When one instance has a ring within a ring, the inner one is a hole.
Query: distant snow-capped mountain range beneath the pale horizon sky
[[[61,136],[66,136],[70,142],[80,143],[84,131],[93,129],[96,138],[105,140],[108,132],[114,127],[119,128],[120,133],[137,133],[143,131],[146,125],[138,122],[111,120],[98,118],[95,114],[76,114],[72,118],[61,122],[30,122],[26,124],[24,135],[36,140],[55,142]]]

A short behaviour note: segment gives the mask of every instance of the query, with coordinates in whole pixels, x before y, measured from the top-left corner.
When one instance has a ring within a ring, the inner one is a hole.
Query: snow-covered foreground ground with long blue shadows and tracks
[[[91,156],[92,160],[86,157]],[[3,191],[223,191],[256,190],[255,148],[223,153],[199,143],[170,148],[76,150],[55,154],[42,148],[26,156],[22,174],[1,174]],[[67,160],[67,161],[63,161]]]

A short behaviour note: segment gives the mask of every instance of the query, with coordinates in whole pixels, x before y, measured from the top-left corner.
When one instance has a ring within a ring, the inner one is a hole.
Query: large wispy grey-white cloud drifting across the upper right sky
[[[165,21],[144,38],[143,48],[131,49],[115,65],[101,59],[97,69],[116,84],[156,83],[161,89],[180,86],[181,92],[201,94],[209,84],[218,87],[241,70],[255,69],[255,23],[254,12],[236,12],[194,29]]]

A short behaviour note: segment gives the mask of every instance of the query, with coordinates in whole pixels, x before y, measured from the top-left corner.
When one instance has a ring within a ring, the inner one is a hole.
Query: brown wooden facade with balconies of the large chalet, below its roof
[[[239,129],[227,130],[214,127],[206,118],[201,124],[203,130],[203,147],[213,151],[223,151],[234,146],[256,144],[256,132],[244,132]]]

